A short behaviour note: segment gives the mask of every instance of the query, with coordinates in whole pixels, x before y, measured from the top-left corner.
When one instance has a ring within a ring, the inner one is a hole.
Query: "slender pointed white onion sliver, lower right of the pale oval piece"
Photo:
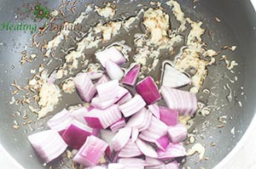
[[[143,155],[157,158],[157,153],[150,144],[143,142],[143,140],[141,140],[140,138],[137,138],[136,144],[138,149],[142,151]]]

